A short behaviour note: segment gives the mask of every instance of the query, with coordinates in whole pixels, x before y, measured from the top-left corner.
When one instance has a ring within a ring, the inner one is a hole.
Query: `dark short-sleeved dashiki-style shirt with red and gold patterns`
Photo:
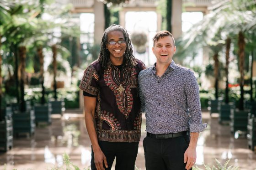
[[[84,72],[79,88],[96,96],[96,133],[98,140],[109,142],[139,142],[141,110],[138,75],[145,65],[137,60],[133,68],[122,69],[108,63],[103,69],[98,60]]]

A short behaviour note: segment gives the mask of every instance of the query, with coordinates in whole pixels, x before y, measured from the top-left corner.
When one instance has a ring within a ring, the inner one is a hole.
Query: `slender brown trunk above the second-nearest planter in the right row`
[[[245,36],[242,31],[239,32],[238,36],[238,56],[239,56],[239,67],[240,67],[240,91],[241,98],[239,102],[239,109],[244,110],[244,84],[245,84],[245,75],[244,75],[244,62],[245,62]]]

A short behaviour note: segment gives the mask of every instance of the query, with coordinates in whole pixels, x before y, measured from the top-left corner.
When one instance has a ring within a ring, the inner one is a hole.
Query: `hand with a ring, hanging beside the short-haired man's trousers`
[[[197,160],[197,151],[196,148],[188,147],[184,154],[184,163],[187,163],[186,170],[192,168]]]

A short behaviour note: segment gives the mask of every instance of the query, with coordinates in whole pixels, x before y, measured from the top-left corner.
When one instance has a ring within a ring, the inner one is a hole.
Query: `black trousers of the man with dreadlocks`
[[[138,154],[139,142],[106,142],[99,141],[102,152],[107,157],[108,168],[111,170],[113,161],[116,158],[115,170],[134,170],[135,160]],[[94,153],[91,149],[91,170],[96,170],[94,164]]]

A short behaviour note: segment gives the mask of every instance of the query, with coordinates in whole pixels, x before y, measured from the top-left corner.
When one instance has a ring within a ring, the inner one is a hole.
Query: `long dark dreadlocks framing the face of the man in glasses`
[[[112,32],[112,31],[121,31],[121,32],[123,32],[124,40],[125,40],[125,43],[126,43],[126,50],[123,54],[123,63],[127,67],[130,67],[130,68],[136,66],[136,59],[133,56],[132,43],[131,43],[131,40],[129,38],[129,35],[128,35],[127,31],[123,28],[123,26],[113,24],[113,25],[107,27],[107,29],[104,31],[103,37],[101,39],[101,51],[100,51],[99,57],[98,57],[98,60],[101,63],[101,67],[106,69],[107,68],[107,63],[110,61],[110,59],[109,59],[110,53],[107,49],[107,34],[109,32]]]

